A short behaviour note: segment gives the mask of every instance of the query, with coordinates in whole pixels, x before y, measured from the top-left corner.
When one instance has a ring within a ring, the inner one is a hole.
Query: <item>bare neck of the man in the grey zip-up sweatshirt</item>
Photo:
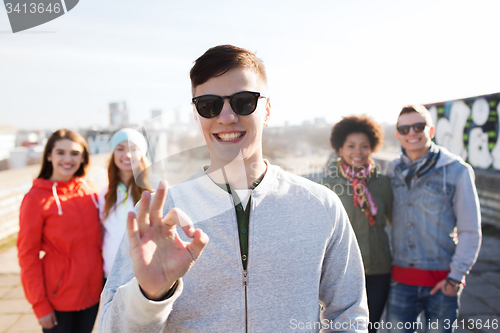
[[[216,183],[229,183],[234,189],[252,189],[254,182],[260,180],[267,170],[267,164],[262,158],[257,161],[236,158],[229,163],[211,161],[206,170],[208,176]]]

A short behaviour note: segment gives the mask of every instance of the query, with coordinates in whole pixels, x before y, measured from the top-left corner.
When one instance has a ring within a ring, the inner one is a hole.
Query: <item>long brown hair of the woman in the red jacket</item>
[[[45,145],[45,149],[43,150],[42,166],[37,178],[50,179],[50,177],[52,177],[54,167],[52,166],[52,162],[50,162],[47,158],[52,153],[52,149],[54,149],[56,142],[64,139],[79,143],[82,146],[83,163],[80,164],[80,167],[73,176],[85,176],[85,173],[87,172],[87,166],[89,165],[89,149],[87,148],[87,142],[85,142],[85,139],[79,133],[73,132],[72,130],[66,128],[61,128],[52,133],[47,140],[47,144]]]

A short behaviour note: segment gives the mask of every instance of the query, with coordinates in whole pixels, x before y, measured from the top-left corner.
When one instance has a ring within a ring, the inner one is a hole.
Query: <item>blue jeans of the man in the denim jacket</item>
[[[387,325],[391,333],[412,333],[416,329],[430,333],[451,333],[457,319],[460,294],[449,296],[439,290],[430,294],[432,287],[417,287],[391,281],[387,302]],[[425,322],[417,322],[421,312]]]

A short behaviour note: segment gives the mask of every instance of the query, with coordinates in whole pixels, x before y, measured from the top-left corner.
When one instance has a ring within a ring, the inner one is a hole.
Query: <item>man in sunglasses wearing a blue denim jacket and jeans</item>
[[[452,332],[465,277],[481,244],[474,172],[432,142],[435,130],[424,106],[401,110],[396,136],[403,154],[388,167],[394,192],[387,304],[392,332]],[[419,327],[421,312],[426,321]]]

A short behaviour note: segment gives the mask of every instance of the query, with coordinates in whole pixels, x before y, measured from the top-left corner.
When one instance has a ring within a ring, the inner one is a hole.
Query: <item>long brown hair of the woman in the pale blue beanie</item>
[[[141,200],[141,194],[144,191],[152,192],[151,186],[148,182],[148,169],[146,168],[146,160],[144,156],[141,156],[141,162],[139,163],[139,177],[137,180],[133,179],[129,184],[125,184],[127,186],[127,191],[130,189],[130,194],[132,196],[132,200],[134,201],[134,205]],[[104,204],[104,212],[102,214],[103,221],[108,217],[109,213],[117,208],[117,200],[118,196],[116,194],[116,190],[118,185],[120,184],[120,169],[115,164],[115,153],[111,154],[111,157],[108,162],[108,193],[104,196],[105,204]],[[137,184],[144,184],[145,187],[141,187]]]

